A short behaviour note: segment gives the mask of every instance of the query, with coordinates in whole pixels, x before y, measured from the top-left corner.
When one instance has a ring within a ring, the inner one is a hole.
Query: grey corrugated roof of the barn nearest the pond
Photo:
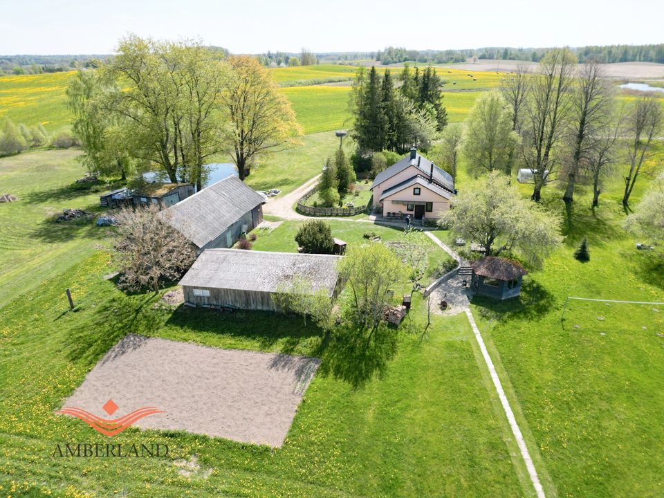
[[[264,199],[237,176],[220,180],[168,208],[168,221],[199,248],[219,237]]]

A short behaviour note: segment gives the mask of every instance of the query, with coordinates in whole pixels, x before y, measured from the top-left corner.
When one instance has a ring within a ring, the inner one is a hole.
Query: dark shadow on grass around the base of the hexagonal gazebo
[[[555,297],[546,288],[533,280],[524,281],[519,297],[499,301],[476,295],[472,304],[479,308],[482,317],[488,319],[533,320],[546,314],[555,306]]]

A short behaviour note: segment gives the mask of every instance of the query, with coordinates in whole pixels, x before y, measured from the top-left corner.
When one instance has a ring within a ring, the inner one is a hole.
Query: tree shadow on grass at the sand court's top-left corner
[[[88,320],[75,326],[65,338],[67,357],[93,365],[129,333],[149,335],[164,322],[154,309],[156,295],[113,297],[95,309]]]

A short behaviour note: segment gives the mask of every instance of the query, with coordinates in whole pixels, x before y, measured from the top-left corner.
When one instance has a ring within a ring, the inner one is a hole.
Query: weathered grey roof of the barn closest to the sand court
[[[303,277],[311,290],[332,295],[342,257],[297,252],[241,249],[206,249],[180,281],[180,285],[272,293],[279,284]]]

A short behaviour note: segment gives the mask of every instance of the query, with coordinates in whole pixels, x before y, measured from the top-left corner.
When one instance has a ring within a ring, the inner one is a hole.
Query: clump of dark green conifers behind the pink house
[[[442,102],[444,81],[431,66],[405,66],[396,86],[389,69],[382,77],[372,66],[360,68],[353,81],[351,136],[360,154],[382,150],[402,153],[413,144],[428,149],[448,122]]]

